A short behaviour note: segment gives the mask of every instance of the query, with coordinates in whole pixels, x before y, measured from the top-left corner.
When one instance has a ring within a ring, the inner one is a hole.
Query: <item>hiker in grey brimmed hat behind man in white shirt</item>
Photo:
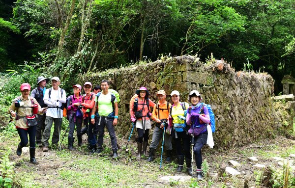
[[[41,107],[47,107],[47,105],[44,103],[43,98],[46,91],[46,84],[49,81],[48,78],[44,78],[42,76],[37,78],[37,85],[35,89],[31,92],[31,97],[35,98],[38,102],[38,104]],[[46,113],[43,114],[37,114],[37,123],[36,126],[36,145],[39,147],[42,147],[42,134],[45,129],[45,119],[46,119]]]

